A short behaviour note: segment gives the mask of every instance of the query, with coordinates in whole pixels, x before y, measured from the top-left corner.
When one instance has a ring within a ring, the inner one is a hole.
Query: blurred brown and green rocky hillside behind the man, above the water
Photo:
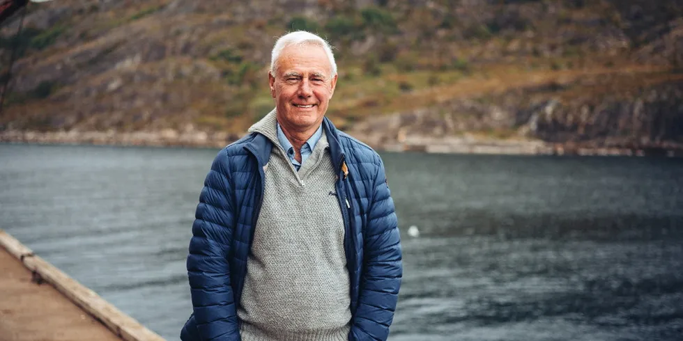
[[[60,0],[13,40],[18,19],[4,140],[224,145],[307,29],[336,48],[329,116],[378,148],[683,150],[680,1]]]

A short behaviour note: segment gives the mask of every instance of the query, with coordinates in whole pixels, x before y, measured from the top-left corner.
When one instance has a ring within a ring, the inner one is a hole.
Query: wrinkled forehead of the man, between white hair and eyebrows
[[[296,74],[305,76],[319,74],[330,77],[332,63],[323,47],[314,43],[289,45],[282,49],[275,61],[275,72],[279,75]]]

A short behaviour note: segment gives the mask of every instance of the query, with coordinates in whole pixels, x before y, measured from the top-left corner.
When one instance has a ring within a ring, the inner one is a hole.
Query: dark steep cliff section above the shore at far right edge
[[[630,96],[548,100],[519,111],[530,134],[548,142],[600,146],[683,145],[683,81],[639,89]]]

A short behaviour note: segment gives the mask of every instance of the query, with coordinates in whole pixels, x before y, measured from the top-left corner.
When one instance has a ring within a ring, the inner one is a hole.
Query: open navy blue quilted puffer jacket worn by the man
[[[401,285],[394,202],[379,155],[323,120],[344,216],[351,283],[348,340],[386,340]],[[221,150],[204,181],[192,225],[187,274],[194,313],[181,340],[240,340],[237,305],[273,143],[251,133]],[[302,297],[301,299],[306,299]]]

